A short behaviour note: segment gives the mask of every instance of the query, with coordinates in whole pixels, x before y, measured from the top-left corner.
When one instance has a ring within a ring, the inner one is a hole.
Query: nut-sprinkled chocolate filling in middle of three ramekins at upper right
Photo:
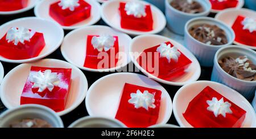
[[[226,33],[217,25],[197,24],[191,27],[188,32],[193,38],[207,45],[228,44]]]

